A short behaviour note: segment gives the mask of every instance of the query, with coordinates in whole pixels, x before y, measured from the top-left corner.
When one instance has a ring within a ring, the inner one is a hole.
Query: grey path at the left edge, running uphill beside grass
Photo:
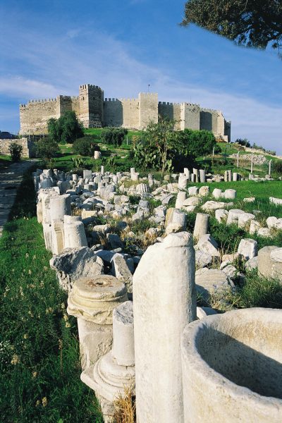
[[[36,159],[20,161],[0,170],[0,238],[23,179],[23,173],[35,162]]]

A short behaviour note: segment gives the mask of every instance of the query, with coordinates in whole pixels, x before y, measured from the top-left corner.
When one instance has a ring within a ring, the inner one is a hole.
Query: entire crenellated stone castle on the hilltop
[[[85,128],[122,126],[144,129],[159,116],[176,121],[175,130],[206,129],[226,142],[230,141],[231,123],[219,110],[202,109],[199,104],[158,102],[158,94],[141,92],[137,99],[104,99],[96,85],[80,85],[78,97],[59,95],[56,99],[31,100],[20,104],[20,135],[47,133],[50,118],[75,111]]]

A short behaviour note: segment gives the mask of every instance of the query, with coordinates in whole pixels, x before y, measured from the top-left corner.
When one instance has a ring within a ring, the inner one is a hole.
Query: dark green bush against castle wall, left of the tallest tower
[[[74,111],[66,111],[59,119],[49,119],[48,133],[56,142],[72,144],[77,138],[83,137],[82,123]]]

